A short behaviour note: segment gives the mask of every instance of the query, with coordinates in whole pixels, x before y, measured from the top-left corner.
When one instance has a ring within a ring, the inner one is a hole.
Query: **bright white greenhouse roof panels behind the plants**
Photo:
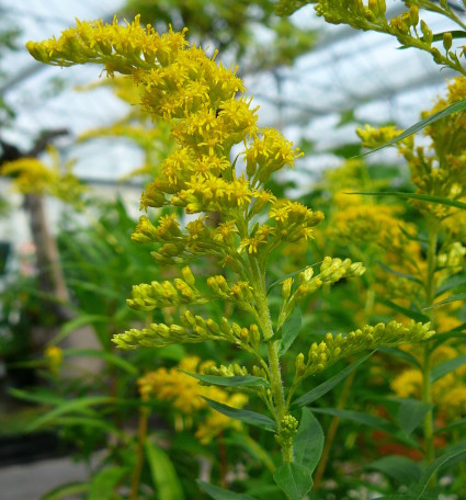
[[[71,137],[109,125],[125,113],[126,106],[106,88],[87,92],[76,89],[95,81],[98,68],[43,66],[22,48],[29,39],[58,35],[75,24],[75,18],[110,21],[122,4],[121,0],[1,0],[3,19],[21,31],[20,49],[5,53],[1,60],[5,73],[1,95],[16,114],[12,126],[2,130],[3,139],[26,149],[41,130],[67,128],[70,137],[59,144],[67,156],[78,158],[77,172],[86,179],[112,181],[138,164],[138,151],[122,141],[71,146]],[[394,1],[389,11],[396,14],[402,7],[401,1]],[[299,10],[293,20],[319,30],[315,49],[292,67],[273,73],[247,73],[245,81],[261,105],[262,125],[281,127],[293,140],[311,140],[317,151],[354,141],[354,121],[391,121],[400,126],[414,123],[420,111],[443,92],[445,78],[452,76],[430,55],[400,50],[388,36],[326,24],[311,7]],[[434,32],[447,27],[437,20],[430,26]],[[261,36],[261,43],[266,44],[268,33],[258,30]],[[352,121],[337,127],[344,123],[342,116]]]

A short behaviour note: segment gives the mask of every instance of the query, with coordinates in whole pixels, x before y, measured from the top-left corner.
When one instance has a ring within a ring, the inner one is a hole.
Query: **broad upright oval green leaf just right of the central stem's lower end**
[[[319,421],[308,408],[303,408],[298,432],[293,443],[297,464],[304,465],[310,474],[322,455],[325,435]]]

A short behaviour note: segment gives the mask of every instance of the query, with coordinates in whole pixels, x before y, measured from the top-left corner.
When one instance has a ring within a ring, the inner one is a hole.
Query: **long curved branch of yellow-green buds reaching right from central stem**
[[[430,339],[435,332],[430,329],[431,323],[416,323],[404,326],[396,321],[388,325],[378,323],[375,327],[366,325],[362,329],[352,331],[343,337],[339,333],[333,337],[327,333],[318,344],[314,342],[309,349],[308,361],[298,354],[296,359],[296,373],[305,378],[315,373],[322,372],[342,357],[356,354],[360,351],[377,349],[379,346],[395,346],[401,343],[422,342]]]

